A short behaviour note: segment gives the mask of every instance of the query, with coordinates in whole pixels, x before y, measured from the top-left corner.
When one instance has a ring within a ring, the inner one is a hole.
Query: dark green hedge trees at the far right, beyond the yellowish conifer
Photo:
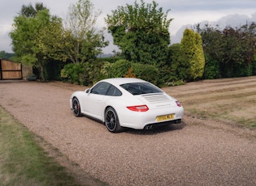
[[[206,24],[203,28],[198,25],[197,29],[202,35],[207,72],[214,73],[213,70],[216,70],[214,74],[221,78],[249,76],[255,73],[255,23],[224,29]]]

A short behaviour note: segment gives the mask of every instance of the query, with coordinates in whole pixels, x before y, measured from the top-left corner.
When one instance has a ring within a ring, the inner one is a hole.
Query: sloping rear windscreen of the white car
[[[148,82],[132,82],[132,83],[125,83],[120,85],[126,91],[130,92],[132,95],[143,95],[143,94],[150,94],[150,93],[159,93],[163,92],[158,87],[148,83]]]

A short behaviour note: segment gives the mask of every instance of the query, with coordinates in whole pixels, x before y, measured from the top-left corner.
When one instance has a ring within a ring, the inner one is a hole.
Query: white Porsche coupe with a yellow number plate
[[[112,133],[125,128],[153,129],[181,122],[184,108],[164,91],[139,78],[108,78],[70,98],[75,116],[105,123]]]

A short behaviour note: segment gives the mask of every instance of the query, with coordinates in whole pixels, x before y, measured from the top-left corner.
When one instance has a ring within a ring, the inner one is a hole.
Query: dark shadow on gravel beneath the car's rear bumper
[[[181,121],[179,124],[171,124],[171,125],[164,125],[155,127],[154,129],[126,129],[124,133],[132,133],[138,135],[154,135],[158,133],[167,133],[174,130],[183,129],[185,126],[184,121]]]

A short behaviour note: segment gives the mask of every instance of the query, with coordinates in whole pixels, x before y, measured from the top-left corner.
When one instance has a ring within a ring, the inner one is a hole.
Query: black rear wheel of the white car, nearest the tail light
[[[106,108],[105,112],[106,129],[111,133],[120,133],[124,128],[119,125],[119,119],[114,108]]]

